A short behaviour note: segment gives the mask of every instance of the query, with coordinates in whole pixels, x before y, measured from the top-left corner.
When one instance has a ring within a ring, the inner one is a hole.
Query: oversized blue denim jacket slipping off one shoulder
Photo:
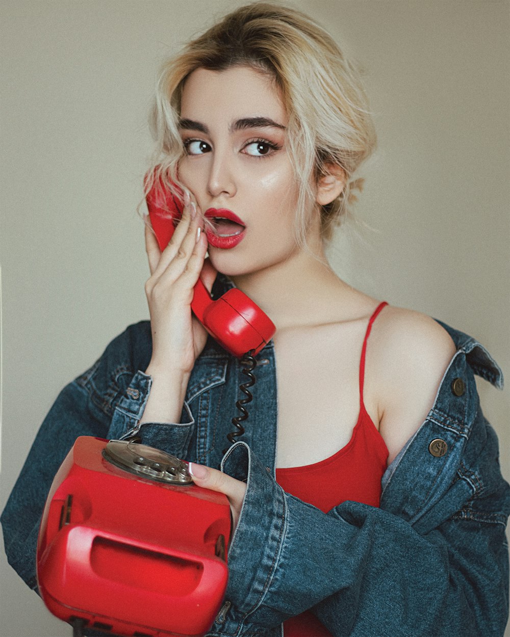
[[[427,419],[384,474],[381,507],[344,502],[327,514],[275,482],[272,343],[258,355],[246,432],[223,457],[245,380],[240,363],[209,340],[181,422],[140,427],[151,385],[140,371],[149,364],[150,326],[128,327],[62,390],[37,434],[2,515],[11,565],[36,589],[41,511],[77,436],[138,433],[147,445],[247,480],[230,544],[228,589],[211,635],[281,636],[282,622],[307,608],[335,636],[502,635],[509,487],[473,373],[499,387],[502,376],[479,343],[444,327],[458,351]],[[446,454],[430,452],[433,440],[444,441]]]

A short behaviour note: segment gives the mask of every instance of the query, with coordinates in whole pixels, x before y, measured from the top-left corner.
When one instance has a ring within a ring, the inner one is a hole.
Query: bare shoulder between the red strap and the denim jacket
[[[448,332],[425,314],[387,306],[377,317],[367,368],[390,462],[425,420],[454,354]]]

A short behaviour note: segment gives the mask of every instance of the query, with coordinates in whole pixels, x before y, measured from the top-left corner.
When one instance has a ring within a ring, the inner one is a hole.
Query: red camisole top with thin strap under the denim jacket
[[[276,480],[287,493],[324,513],[345,500],[379,506],[381,478],[386,470],[388,448],[363,403],[365,353],[372,324],[387,303],[381,303],[368,321],[360,360],[360,414],[351,440],[331,457],[302,467],[276,470]],[[284,637],[331,637],[310,612],[284,622]]]

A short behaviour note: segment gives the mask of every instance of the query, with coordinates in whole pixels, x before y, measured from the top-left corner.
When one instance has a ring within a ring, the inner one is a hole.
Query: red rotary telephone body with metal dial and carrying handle
[[[73,635],[201,636],[226,589],[230,530],[228,500],[194,485],[186,462],[80,436],[41,519],[39,592]]]

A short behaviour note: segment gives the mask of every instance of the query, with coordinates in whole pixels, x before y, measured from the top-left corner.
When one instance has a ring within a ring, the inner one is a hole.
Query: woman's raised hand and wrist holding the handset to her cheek
[[[145,283],[152,333],[149,400],[140,422],[179,422],[187,382],[207,332],[191,312],[193,288],[201,276],[211,289],[216,271],[208,261],[207,239],[194,202],[185,200],[182,218],[163,252],[145,227],[150,278]]]

